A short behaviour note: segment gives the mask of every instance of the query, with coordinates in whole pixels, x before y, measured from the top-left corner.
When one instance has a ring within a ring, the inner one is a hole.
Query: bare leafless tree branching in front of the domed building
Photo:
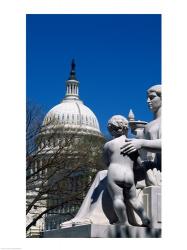
[[[105,167],[105,139],[67,131],[55,119],[44,124],[42,109],[30,102],[26,118],[26,214],[34,214],[28,231],[45,214],[82,202],[95,172]]]

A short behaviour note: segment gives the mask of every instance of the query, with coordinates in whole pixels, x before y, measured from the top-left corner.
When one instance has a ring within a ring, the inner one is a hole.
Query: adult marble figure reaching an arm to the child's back
[[[121,147],[121,153],[124,156],[142,149],[146,151],[147,159],[139,163],[146,169],[146,186],[161,184],[161,93],[161,85],[154,85],[147,90],[147,103],[154,119],[145,126],[141,139],[125,139]]]

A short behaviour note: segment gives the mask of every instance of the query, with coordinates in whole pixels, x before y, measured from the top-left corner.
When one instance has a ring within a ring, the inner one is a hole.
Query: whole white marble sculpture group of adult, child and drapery
[[[161,85],[152,86],[147,94],[147,103],[154,119],[145,123],[142,135],[139,134],[141,131],[138,132],[139,139],[126,137],[125,118],[109,121],[109,131],[115,137],[104,147],[105,161],[109,168],[97,173],[77,215],[62,223],[61,227],[118,222],[129,222],[134,226],[149,224],[140,202],[143,201],[145,189],[160,189],[161,186]],[[139,184],[142,182],[143,185]],[[149,204],[146,200],[144,208],[149,205],[147,211],[155,210],[154,213],[158,214],[159,196],[156,194],[155,197],[155,208],[151,200]],[[144,198],[148,199],[146,192]],[[135,218],[132,210],[139,215],[142,223]],[[153,225],[153,217],[150,219]]]

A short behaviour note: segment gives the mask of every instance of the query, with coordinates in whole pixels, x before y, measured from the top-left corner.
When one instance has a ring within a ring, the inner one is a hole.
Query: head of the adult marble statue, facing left
[[[151,111],[156,113],[162,105],[161,85],[154,85],[147,90],[147,103]]]

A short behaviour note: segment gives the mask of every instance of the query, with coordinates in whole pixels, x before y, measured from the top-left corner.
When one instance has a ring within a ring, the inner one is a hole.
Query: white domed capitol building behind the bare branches
[[[74,217],[89,188],[92,176],[104,166],[101,151],[105,139],[96,115],[79,97],[79,81],[76,79],[74,60],[66,81],[65,97],[45,115],[37,141],[38,160],[34,162],[31,172],[37,172],[38,168],[41,168],[41,174],[40,178],[35,180],[35,188],[27,191],[27,206],[35,199],[35,191],[40,190],[43,185],[44,176],[48,176],[47,185],[52,186],[53,190],[46,191],[46,194],[43,192],[45,198],[40,199],[30,210],[27,224],[37,213],[48,210],[31,227],[43,231],[59,228],[62,222]],[[51,162],[51,159],[52,167],[46,164]],[[56,172],[49,178],[53,169]],[[78,191],[79,198],[78,193],[76,194]],[[64,193],[67,193],[65,197]],[[68,200],[69,194],[73,193],[75,197],[72,195],[73,198]]]

